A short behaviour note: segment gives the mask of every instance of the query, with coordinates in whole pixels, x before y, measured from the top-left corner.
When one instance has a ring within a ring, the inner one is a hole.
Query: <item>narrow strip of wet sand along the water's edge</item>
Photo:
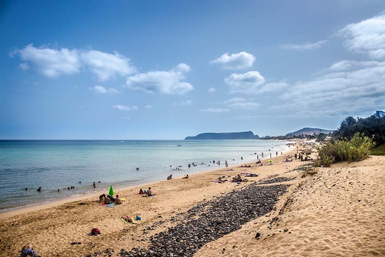
[[[288,148],[286,150],[283,150],[282,155],[284,155],[285,153],[291,152],[295,149],[296,149],[295,147],[291,147],[291,148]],[[274,160],[275,158],[279,158],[282,155],[279,154],[278,156],[271,157],[271,159]],[[270,159],[270,157],[263,157],[262,159],[259,158],[259,160],[267,160],[267,159]],[[245,164],[251,164],[254,162],[257,162],[257,159],[254,159],[253,161],[247,161],[247,162],[245,162]],[[223,163],[223,165],[224,165],[224,163]],[[235,169],[235,168],[238,168],[239,165],[244,165],[244,164],[229,166],[229,167],[227,167],[227,169]],[[189,174],[189,176],[191,177],[191,176],[202,175],[202,174],[211,173],[211,172],[218,172],[219,170],[222,170],[224,168],[226,168],[226,167],[221,167],[221,168],[218,167],[218,168],[208,170],[208,171],[200,171],[197,173],[191,173],[191,175]],[[184,175],[182,175],[182,176],[184,176]],[[180,177],[180,178],[182,178],[182,177]],[[174,179],[180,179],[180,178],[175,177]],[[140,183],[140,184],[133,184],[133,185],[129,185],[129,186],[116,187],[116,188],[114,188],[114,191],[116,191],[116,192],[118,190],[127,191],[127,190],[131,190],[132,188],[135,188],[135,187],[146,188],[151,184],[157,184],[157,183],[161,183],[163,181],[165,181],[165,179],[156,180],[156,181],[149,182],[149,183]],[[66,204],[66,203],[72,203],[72,202],[76,202],[76,201],[83,201],[83,200],[88,200],[90,198],[99,197],[100,194],[102,194],[103,192],[108,191],[108,190],[109,190],[109,188],[106,188],[106,189],[101,189],[101,190],[96,191],[96,192],[85,193],[83,195],[68,196],[68,197],[65,197],[62,199],[53,200],[53,201],[49,201],[49,202],[43,202],[43,203],[36,203],[36,204],[30,205],[30,206],[15,207],[11,210],[1,211],[0,212],[0,220],[10,218],[13,216],[17,216],[17,215],[21,215],[21,214],[26,214],[29,212],[35,212],[35,211],[45,210],[45,209],[52,208],[52,207],[57,207],[57,206],[60,206],[60,205]]]

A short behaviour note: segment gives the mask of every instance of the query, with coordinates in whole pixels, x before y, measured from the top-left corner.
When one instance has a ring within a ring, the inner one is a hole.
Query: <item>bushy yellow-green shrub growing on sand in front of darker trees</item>
[[[332,139],[322,147],[317,147],[318,157],[314,164],[317,167],[330,167],[336,162],[361,161],[369,156],[374,146],[372,139],[361,133],[354,134],[350,140]]]

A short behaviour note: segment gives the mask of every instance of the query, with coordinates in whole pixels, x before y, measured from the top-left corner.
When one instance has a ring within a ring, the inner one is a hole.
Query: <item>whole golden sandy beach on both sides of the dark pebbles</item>
[[[122,249],[146,249],[160,232],[187,222],[178,215],[196,205],[250,186],[285,184],[291,185],[271,212],[209,242],[195,256],[384,256],[385,157],[320,168],[318,174],[301,178],[299,168],[305,162],[283,162],[284,155],[273,158],[273,165],[252,163],[251,168],[221,168],[187,180],[153,183],[154,197],[135,195],[147,185],[116,190],[126,200],[114,208],[98,206],[97,195],[87,195],[3,213],[1,256],[17,256],[27,242],[42,257],[121,256]],[[241,184],[210,183],[241,172],[259,176]],[[137,224],[120,220],[136,214],[142,218]],[[101,235],[87,236],[94,227]]]

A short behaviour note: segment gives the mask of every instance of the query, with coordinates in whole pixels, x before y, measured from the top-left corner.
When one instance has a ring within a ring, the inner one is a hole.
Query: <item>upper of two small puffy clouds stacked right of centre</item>
[[[241,70],[253,67],[256,57],[247,52],[240,52],[229,55],[228,53],[211,61],[211,64],[216,64],[221,69],[225,70]]]

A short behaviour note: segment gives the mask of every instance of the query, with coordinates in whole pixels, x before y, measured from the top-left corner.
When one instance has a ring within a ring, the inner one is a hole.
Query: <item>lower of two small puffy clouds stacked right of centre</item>
[[[258,72],[232,73],[224,82],[230,87],[230,93],[250,93],[256,91],[265,78]]]

